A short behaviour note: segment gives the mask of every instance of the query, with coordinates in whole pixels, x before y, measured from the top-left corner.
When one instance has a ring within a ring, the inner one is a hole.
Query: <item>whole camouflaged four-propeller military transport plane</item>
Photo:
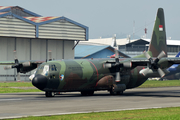
[[[143,84],[148,77],[163,77],[173,64],[179,64],[180,58],[167,57],[164,11],[159,8],[153,28],[151,42],[147,52],[134,58],[108,59],[72,59],[47,62],[26,61],[0,62],[12,64],[5,68],[16,68],[26,73],[35,68],[37,71],[32,84],[45,91],[46,97],[55,96],[55,92],[81,92],[93,95],[94,91],[108,90],[110,94],[123,94],[123,91]]]

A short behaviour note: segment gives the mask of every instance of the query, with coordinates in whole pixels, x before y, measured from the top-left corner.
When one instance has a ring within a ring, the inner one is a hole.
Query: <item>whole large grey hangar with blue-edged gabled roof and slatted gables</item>
[[[87,41],[88,27],[67,17],[43,17],[19,6],[0,6],[0,61],[73,59],[74,41]],[[12,81],[16,70],[0,66],[0,81]],[[21,74],[28,80],[31,73]]]

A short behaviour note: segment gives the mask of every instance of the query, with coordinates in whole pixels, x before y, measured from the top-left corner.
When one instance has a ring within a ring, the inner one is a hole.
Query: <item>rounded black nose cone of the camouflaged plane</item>
[[[47,85],[48,79],[43,75],[36,75],[33,80],[32,84],[40,90],[43,90]]]

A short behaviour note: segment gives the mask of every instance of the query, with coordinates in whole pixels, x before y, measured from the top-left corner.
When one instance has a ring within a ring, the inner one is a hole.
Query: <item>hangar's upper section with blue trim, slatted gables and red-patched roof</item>
[[[0,36],[88,40],[88,27],[62,17],[42,17],[19,6],[0,6]]]

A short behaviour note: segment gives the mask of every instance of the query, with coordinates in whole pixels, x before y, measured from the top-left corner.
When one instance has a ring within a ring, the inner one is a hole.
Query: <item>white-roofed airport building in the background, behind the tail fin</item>
[[[135,39],[129,40],[112,38],[100,38],[89,39],[88,41],[82,41],[79,44],[91,44],[91,45],[111,45],[118,46],[119,51],[122,53],[134,57],[142,54],[145,50],[148,50],[150,39]],[[180,51],[180,40],[167,40],[167,52],[168,57],[174,57]]]

